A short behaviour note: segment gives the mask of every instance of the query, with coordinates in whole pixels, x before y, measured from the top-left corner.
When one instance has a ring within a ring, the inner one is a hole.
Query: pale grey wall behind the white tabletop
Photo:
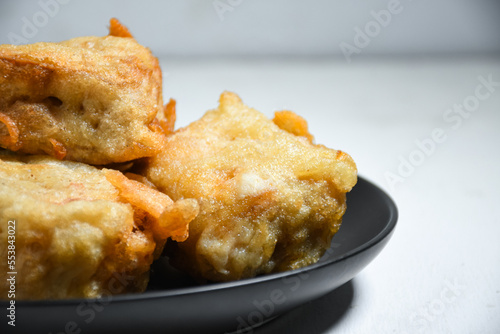
[[[54,1],[61,3],[58,8],[48,5]],[[27,38],[37,42],[103,35],[115,16],[159,56],[341,55],[339,44],[353,42],[355,27],[364,29],[373,20],[371,12],[386,10],[391,2],[220,0],[232,8],[221,20],[213,0],[3,0],[0,44],[9,42],[9,33],[23,36],[23,18],[41,26]],[[395,2],[401,11],[363,54],[500,51],[500,1]],[[44,7],[54,8],[45,11],[48,20],[37,14]]]

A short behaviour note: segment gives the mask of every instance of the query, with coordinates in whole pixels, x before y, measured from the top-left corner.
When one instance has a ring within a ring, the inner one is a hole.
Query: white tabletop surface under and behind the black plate
[[[366,269],[254,333],[500,333],[499,57],[161,65],[178,126],[216,107],[224,90],[268,116],[293,110],[317,143],[351,154],[359,175],[398,206],[391,241]],[[498,84],[489,92],[479,77]],[[448,111],[464,103],[475,110]],[[422,159],[416,141],[433,131],[444,141]],[[387,173],[397,175],[410,157],[418,165],[391,186]]]

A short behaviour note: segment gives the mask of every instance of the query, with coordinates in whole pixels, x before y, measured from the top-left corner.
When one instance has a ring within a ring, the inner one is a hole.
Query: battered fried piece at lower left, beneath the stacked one
[[[0,270],[17,272],[16,299],[144,291],[166,239],[185,239],[197,212],[195,200],[174,203],[115,170],[0,152]]]

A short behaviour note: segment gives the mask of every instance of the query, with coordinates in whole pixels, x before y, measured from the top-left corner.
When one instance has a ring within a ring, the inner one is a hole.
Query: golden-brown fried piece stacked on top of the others
[[[104,165],[164,141],[158,60],[116,19],[105,37],[0,45],[0,73],[0,147]]]

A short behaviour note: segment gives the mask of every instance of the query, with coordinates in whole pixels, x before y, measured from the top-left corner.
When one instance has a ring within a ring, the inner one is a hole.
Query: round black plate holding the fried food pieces
[[[360,177],[347,203],[332,247],[314,265],[237,282],[196,285],[171,269],[166,273],[163,264],[157,263],[142,294],[18,301],[16,327],[8,326],[7,333],[251,332],[244,327],[266,322],[346,283],[389,241],[397,209],[382,190]],[[170,280],[165,283],[167,276]],[[7,307],[5,301],[0,305],[3,310]],[[2,318],[0,326],[5,328],[5,315]]]

